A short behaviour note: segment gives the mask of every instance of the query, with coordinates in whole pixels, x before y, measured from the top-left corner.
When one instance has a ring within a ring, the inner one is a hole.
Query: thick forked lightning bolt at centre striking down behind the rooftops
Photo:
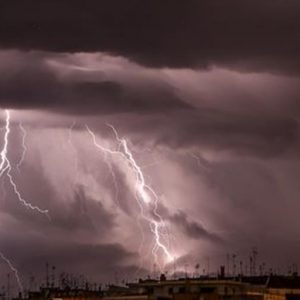
[[[118,142],[117,150],[112,150],[99,144],[94,132],[87,125],[86,129],[91,135],[93,144],[96,148],[100,149],[105,154],[120,156],[125,162],[127,162],[127,165],[135,174],[135,198],[139,204],[141,216],[148,222],[150,231],[152,232],[155,241],[152,254],[157,262],[157,255],[158,251],[160,250],[164,254],[166,261],[168,263],[172,262],[174,261],[175,257],[168,249],[169,241],[165,241],[167,232],[166,224],[157,211],[159,197],[155,191],[146,184],[142,169],[134,159],[133,154],[128,147],[127,140],[125,138],[120,138],[118,132],[112,125],[108,124],[107,126],[109,126],[115,134]]]

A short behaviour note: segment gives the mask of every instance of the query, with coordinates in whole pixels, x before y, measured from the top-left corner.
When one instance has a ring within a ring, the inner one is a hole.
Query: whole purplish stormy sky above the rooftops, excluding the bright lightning
[[[86,128],[116,149],[111,124],[158,195],[176,258],[163,269],[216,272],[228,253],[246,266],[256,247],[287,272],[300,263],[299,53],[297,0],[2,1],[1,149],[9,109],[13,177],[51,221],[4,174],[0,251],[25,282],[46,261],[102,282],[160,271],[132,170]]]

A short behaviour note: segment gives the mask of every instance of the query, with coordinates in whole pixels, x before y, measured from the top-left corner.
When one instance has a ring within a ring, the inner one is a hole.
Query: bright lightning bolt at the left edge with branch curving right
[[[32,210],[36,210],[41,214],[45,214],[47,215],[47,217],[49,218],[49,211],[46,209],[41,209],[38,206],[32,205],[31,203],[27,202],[21,195],[13,177],[11,174],[12,171],[12,166],[11,163],[7,157],[7,151],[8,151],[8,140],[9,140],[9,134],[10,134],[10,112],[8,109],[5,110],[5,114],[6,114],[6,121],[5,121],[5,134],[4,134],[4,145],[3,145],[3,149],[0,153],[0,157],[1,157],[1,162],[0,162],[0,178],[3,176],[3,174],[6,173],[9,182],[19,200],[19,202],[21,202],[26,208],[28,209],[32,209]]]

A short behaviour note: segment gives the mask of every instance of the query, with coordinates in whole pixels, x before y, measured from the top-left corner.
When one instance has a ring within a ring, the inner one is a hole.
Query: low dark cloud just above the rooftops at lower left
[[[56,266],[57,272],[84,274],[90,279],[108,282],[115,279],[115,274],[128,278],[137,267],[134,265],[134,252],[115,244],[84,244],[49,239],[33,239],[28,236],[13,240],[1,238],[1,251],[22,270],[22,279],[33,272],[43,279],[46,262]]]

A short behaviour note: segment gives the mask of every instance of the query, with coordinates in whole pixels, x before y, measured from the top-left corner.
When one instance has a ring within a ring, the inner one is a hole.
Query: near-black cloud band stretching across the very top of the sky
[[[106,51],[150,66],[299,72],[297,0],[2,2],[3,48]]]

